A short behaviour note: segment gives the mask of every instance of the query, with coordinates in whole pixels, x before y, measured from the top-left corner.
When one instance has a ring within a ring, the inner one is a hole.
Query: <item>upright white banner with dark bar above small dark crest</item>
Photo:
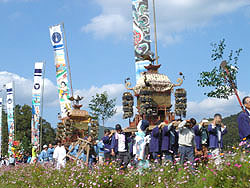
[[[39,145],[39,120],[41,117],[41,93],[43,88],[43,62],[35,63],[34,85],[32,88],[32,120],[31,120],[31,143]]]

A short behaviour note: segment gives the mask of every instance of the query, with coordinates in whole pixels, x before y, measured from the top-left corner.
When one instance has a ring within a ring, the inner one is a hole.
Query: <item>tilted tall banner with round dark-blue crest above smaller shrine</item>
[[[60,100],[61,117],[65,118],[67,117],[68,112],[71,110],[71,101],[69,100],[69,82],[61,25],[50,27],[50,39],[55,55],[56,78]]]

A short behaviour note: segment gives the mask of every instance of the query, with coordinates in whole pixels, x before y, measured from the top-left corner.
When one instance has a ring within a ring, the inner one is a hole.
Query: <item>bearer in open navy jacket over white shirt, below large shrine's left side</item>
[[[115,130],[111,140],[111,155],[117,156],[121,170],[123,170],[129,163],[128,144],[131,140],[129,134],[122,131],[120,124],[115,126]]]

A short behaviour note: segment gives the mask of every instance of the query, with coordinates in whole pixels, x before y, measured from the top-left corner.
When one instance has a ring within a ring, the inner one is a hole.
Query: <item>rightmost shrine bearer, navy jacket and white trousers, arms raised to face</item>
[[[227,127],[222,123],[220,114],[214,115],[213,123],[208,125],[209,149],[216,165],[221,163],[220,153],[223,148],[223,136],[227,133]]]

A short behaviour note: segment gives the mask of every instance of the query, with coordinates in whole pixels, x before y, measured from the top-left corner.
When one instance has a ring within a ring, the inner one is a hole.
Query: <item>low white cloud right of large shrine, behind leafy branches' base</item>
[[[241,98],[246,96],[246,92],[239,92]],[[197,119],[213,117],[215,113],[220,113],[224,117],[237,114],[241,111],[241,107],[236,96],[226,99],[206,98],[202,101],[190,101],[187,104],[188,117]]]

